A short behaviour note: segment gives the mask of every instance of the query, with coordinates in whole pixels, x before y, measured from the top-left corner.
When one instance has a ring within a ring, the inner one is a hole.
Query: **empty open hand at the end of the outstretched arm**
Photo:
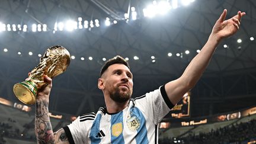
[[[212,34],[214,34],[219,39],[224,37],[232,36],[239,30],[241,18],[245,15],[245,12],[238,11],[238,14],[228,20],[225,20],[227,10],[224,9],[222,15],[220,15],[219,20],[216,21]]]

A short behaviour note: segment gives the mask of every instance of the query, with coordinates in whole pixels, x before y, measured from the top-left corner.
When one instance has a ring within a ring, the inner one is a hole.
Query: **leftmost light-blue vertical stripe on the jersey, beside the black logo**
[[[98,132],[100,132],[100,120],[101,120],[101,114],[98,114],[94,122],[92,123],[91,127],[91,133],[89,135],[89,138],[91,139],[92,144],[98,144],[101,142],[100,137],[97,137]]]

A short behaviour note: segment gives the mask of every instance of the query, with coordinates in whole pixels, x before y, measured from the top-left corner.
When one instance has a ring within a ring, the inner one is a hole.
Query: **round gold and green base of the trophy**
[[[34,104],[36,102],[37,87],[31,81],[24,81],[14,85],[14,94],[24,104]]]

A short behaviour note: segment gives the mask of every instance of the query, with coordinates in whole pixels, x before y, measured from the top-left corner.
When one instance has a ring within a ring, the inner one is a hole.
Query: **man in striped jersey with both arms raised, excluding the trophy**
[[[98,88],[103,91],[105,108],[79,116],[53,133],[49,119],[49,95],[52,79],[44,76],[47,86],[37,94],[35,132],[38,143],[158,143],[157,125],[180,101],[185,92],[199,81],[220,41],[235,34],[245,12],[225,20],[223,11],[209,40],[194,57],[180,78],[162,85],[142,97],[131,99],[133,75],[126,60],[117,56],[101,69]]]

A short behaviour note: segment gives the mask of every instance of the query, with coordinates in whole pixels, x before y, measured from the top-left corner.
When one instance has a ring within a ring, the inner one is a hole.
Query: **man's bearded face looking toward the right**
[[[103,73],[105,91],[110,98],[118,103],[128,101],[133,91],[133,75],[123,64],[114,64]]]

